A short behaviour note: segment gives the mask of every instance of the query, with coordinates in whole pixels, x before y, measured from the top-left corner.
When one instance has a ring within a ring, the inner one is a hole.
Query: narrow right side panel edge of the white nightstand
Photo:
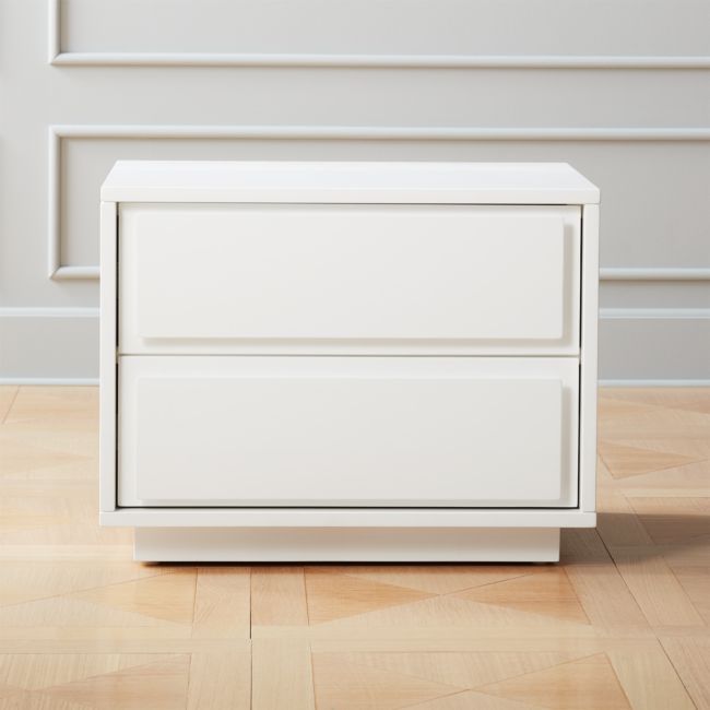
[[[599,321],[599,205],[582,212],[579,507],[596,509],[596,350]]]

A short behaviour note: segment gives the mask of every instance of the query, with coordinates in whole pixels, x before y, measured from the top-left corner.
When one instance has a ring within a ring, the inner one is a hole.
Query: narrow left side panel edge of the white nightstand
[[[100,343],[98,478],[100,510],[116,509],[116,271],[117,211],[100,204]]]

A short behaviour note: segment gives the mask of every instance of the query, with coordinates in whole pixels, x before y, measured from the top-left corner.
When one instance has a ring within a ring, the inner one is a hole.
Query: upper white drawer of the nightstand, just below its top
[[[577,354],[580,208],[119,209],[121,353]]]

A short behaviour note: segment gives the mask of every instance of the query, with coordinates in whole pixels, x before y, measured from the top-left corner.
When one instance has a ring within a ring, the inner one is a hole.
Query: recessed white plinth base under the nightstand
[[[556,563],[559,528],[137,528],[134,558],[166,563]]]

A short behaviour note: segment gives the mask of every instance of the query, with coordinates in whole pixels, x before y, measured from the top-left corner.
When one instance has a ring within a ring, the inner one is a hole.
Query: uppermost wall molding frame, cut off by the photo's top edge
[[[48,61],[69,67],[301,67],[380,69],[710,69],[710,56],[74,52],[61,48],[61,3],[48,0]]]

